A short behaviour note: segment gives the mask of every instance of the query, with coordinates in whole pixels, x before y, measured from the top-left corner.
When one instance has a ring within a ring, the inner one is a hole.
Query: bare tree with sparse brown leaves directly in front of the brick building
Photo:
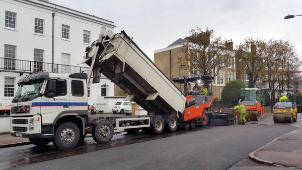
[[[225,49],[225,41],[221,37],[214,37],[214,31],[206,28],[191,29],[190,36],[183,43],[184,57],[178,58],[184,69],[192,74],[199,72],[202,75],[217,76],[219,70],[233,65],[234,51]],[[208,88],[208,82],[204,82]]]

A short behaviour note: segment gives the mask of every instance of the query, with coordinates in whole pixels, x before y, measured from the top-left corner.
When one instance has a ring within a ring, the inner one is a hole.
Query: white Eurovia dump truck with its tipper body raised
[[[89,74],[41,71],[18,81],[11,105],[12,136],[29,138],[37,146],[52,142],[67,150],[83,141],[87,133],[97,143],[107,143],[118,129],[161,134],[189,123],[192,128],[198,122],[207,125],[206,115],[215,117],[209,109],[213,96],[203,97],[207,103],[188,106],[192,95],[184,96],[124,31],[116,34],[102,27],[99,39],[86,53],[83,63],[91,67]],[[148,115],[90,118],[87,82],[93,74],[93,83],[99,83],[100,73],[129,94],[125,100],[135,101]],[[199,117],[192,117],[194,112]]]

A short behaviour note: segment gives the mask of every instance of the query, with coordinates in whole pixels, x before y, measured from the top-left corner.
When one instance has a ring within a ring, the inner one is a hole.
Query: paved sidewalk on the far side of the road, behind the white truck
[[[114,130],[114,133],[123,132],[124,130]],[[92,137],[91,134],[87,134],[87,137]],[[11,134],[0,134],[0,148],[28,145],[31,142],[28,138],[13,137]]]

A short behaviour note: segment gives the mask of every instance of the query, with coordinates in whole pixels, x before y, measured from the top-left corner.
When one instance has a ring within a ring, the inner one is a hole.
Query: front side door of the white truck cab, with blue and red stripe
[[[69,112],[69,95],[70,93],[67,88],[68,79],[54,79],[56,80],[56,89],[53,98],[47,98],[45,96],[41,97],[41,114],[42,114],[42,124],[53,123],[53,120],[61,112]],[[47,88],[47,84],[44,88]],[[43,119],[44,117],[48,119]]]

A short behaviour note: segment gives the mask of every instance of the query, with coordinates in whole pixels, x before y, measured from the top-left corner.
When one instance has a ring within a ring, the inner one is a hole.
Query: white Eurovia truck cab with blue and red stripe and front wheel
[[[85,73],[39,72],[21,78],[11,105],[11,135],[35,145],[77,144],[88,115],[86,80]],[[54,140],[58,129],[61,140]]]

